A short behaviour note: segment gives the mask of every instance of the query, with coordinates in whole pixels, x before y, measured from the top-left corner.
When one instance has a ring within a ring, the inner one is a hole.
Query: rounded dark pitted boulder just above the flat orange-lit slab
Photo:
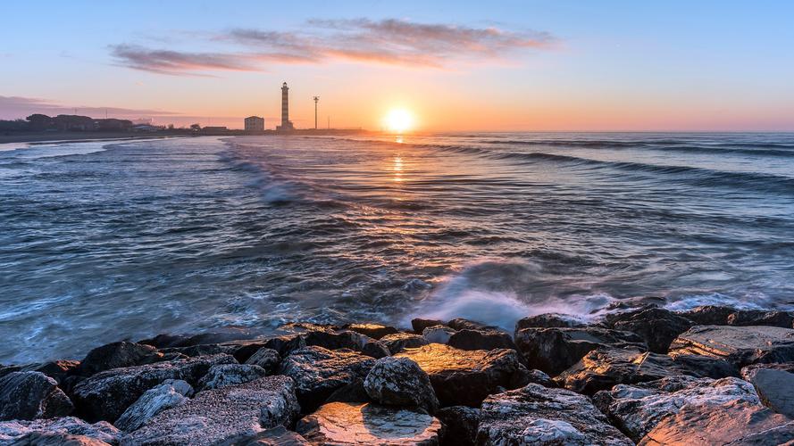
[[[378,359],[364,379],[364,390],[382,405],[423,409],[429,414],[439,409],[430,378],[411,359]]]

